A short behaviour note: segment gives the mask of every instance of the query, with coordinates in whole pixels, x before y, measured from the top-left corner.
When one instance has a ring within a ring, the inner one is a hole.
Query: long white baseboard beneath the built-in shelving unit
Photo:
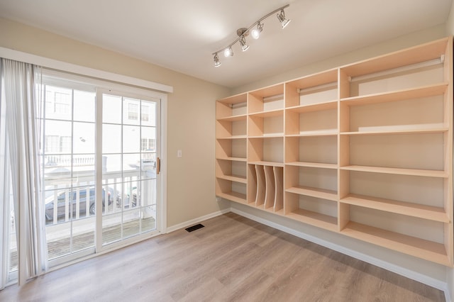
[[[445,293],[446,301],[450,301],[448,285],[446,284],[446,282],[440,281],[438,279],[434,279],[430,276],[426,276],[426,275],[418,273],[418,272],[411,271],[410,269],[405,269],[404,267],[399,267],[399,266],[389,263],[389,262],[385,262],[382,259],[377,259],[375,257],[370,257],[369,255],[365,255],[365,254],[357,252],[355,250],[350,250],[347,247],[343,247],[343,246],[337,245],[333,242],[329,242],[329,241],[320,239],[319,237],[314,237],[312,235],[300,232],[298,230],[294,230],[292,228],[287,228],[284,225],[279,225],[279,223],[274,223],[270,220],[260,218],[258,216],[254,216],[250,213],[245,213],[243,211],[238,210],[237,208],[231,208],[231,211],[240,216],[244,216],[245,218],[249,218],[251,220],[257,221],[258,223],[268,225],[277,230],[282,230],[282,232],[289,233],[291,235],[300,237],[301,239],[308,240],[310,242],[314,242],[317,245],[321,245],[323,247],[327,247],[328,249],[335,250],[336,252],[341,252],[344,255],[348,255],[355,259],[359,259],[361,261],[373,264],[377,267],[381,267],[382,269],[386,269],[389,272],[394,272],[396,274],[405,276],[409,279],[413,279],[413,280],[419,281],[423,284],[427,284],[428,286],[432,286],[435,289],[439,289],[439,290],[443,291]]]

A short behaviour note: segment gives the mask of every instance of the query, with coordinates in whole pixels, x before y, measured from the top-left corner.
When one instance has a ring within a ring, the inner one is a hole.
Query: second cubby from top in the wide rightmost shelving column
[[[341,133],[409,133],[448,130],[447,84],[341,101]]]

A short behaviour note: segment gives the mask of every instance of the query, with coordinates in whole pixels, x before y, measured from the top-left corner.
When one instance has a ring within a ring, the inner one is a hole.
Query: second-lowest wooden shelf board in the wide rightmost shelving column
[[[398,213],[406,216],[438,221],[441,223],[450,222],[448,214],[445,212],[445,210],[443,208],[437,208],[435,206],[424,206],[417,203],[393,201],[390,199],[358,194],[348,194],[344,198],[341,198],[341,203],[348,203],[353,206],[373,208],[375,210]]]

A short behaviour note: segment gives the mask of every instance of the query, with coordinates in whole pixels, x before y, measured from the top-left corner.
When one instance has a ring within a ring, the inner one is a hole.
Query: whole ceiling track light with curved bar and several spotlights
[[[224,47],[221,50],[218,50],[216,52],[213,52],[213,60],[214,60],[214,66],[218,67],[221,65],[221,61],[219,60],[218,57],[218,52],[224,52],[224,57],[232,57],[233,56],[233,50],[232,46],[235,45],[237,42],[240,43],[241,45],[241,50],[246,51],[249,48],[249,45],[246,44],[246,37],[250,34],[254,39],[258,39],[260,37],[260,33],[263,30],[263,23],[262,21],[268,18],[269,16],[272,16],[274,13],[277,13],[277,19],[281,23],[282,28],[285,28],[289,23],[290,20],[285,18],[285,13],[284,9],[289,7],[290,4],[287,4],[285,6],[279,7],[279,9],[275,9],[271,13],[268,13],[265,16],[262,16],[262,18],[258,19],[253,25],[249,26],[249,28],[239,28],[236,30],[236,34],[238,35],[238,38],[233,41],[228,47]],[[254,28],[255,27],[255,28]],[[252,29],[254,28],[254,29]],[[251,30],[252,29],[252,30]]]

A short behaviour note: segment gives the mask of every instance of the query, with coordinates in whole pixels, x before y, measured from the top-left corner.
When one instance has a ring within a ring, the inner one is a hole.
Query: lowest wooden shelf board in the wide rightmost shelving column
[[[450,259],[446,253],[445,245],[438,242],[394,233],[389,230],[382,230],[352,221],[345,225],[341,233],[431,262],[450,265]]]

